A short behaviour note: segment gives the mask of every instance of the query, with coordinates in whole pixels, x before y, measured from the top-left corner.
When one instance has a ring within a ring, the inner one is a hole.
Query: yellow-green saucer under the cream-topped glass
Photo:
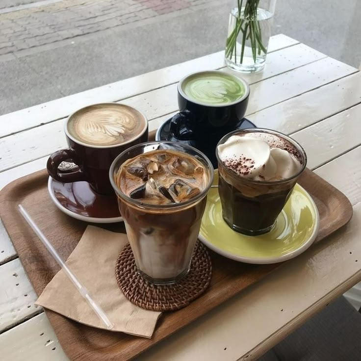
[[[218,184],[215,171],[213,184]],[[299,184],[277,218],[273,229],[247,236],[233,231],[222,218],[218,188],[208,193],[199,239],[222,256],[246,263],[277,263],[306,251],[316,238],[319,214],[309,193]]]

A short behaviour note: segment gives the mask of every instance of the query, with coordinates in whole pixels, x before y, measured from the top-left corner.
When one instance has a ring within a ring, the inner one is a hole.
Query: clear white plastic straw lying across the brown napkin
[[[40,231],[39,227],[35,224],[35,222],[31,219],[29,214],[26,212],[24,207],[22,205],[19,205],[20,213],[25,218],[26,222],[29,224],[29,226],[32,228],[32,230],[37,234],[37,236],[40,238],[40,240],[43,242],[44,246],[48,249],[52,257],[58,262],[58,264],[61,266],[65,274],[68,276],[70,281],[73,282],[81,296],[85,298],[85,300],[88,302],[89,306],[94,310],[94,312],[99,316],[99,318],[103,321],[107,329],[112,329],[113,324],[110,322],[109,318],[106,316],[103,309],[92,299],[92,297],[89,294],[89,291],[79,282],[77,277],[74,275],[74,273],[69,269],[68,265],[61,259],[59,254],[55,251],[52,244],[48,241],[48,239],[45,237],[43,232]]]

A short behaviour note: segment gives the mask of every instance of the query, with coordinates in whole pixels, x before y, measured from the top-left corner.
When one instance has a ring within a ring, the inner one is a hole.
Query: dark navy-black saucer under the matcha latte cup
[[[195,140],[180,140],[175,138],[170,132],[170,122],[172,118],[166,120],[157,130],[155,134],[155,140],[167,140],[170,142],[179,142],[182,144],[188,144],[194,148],[199,149],[203,152],[209,160],[212,162],[214,168],[218,168],[216,156],[215,156],[215,147],[218,142],[213,145],[208,144],[207,146],[198,144]],[[237,125],[236,129],[246,129],[246,128],[257,128],[251,121],[246,118],[243,118]]]

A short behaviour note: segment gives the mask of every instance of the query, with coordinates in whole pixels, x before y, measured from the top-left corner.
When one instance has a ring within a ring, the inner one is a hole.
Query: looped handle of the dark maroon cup
[[[76,163],[76,171],[69,173],[69,170],[59,169],[60,163],[69,160],[72,160],[74,163]],[[62,183],[88,180],[86,174],[81,170],[81,161],[73,148],[61,149],[60,151],[56,151],[55,153],[53,153],[48,159],[47,169],[49,175],[54,180]]]

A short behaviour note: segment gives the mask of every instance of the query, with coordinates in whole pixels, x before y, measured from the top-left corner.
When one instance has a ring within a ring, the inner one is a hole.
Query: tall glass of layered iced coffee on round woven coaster
[[[187,145],[147,142],[120,154],[109,176],[139,273],[154,284],[179,281],[213,181],[209,159]]]

